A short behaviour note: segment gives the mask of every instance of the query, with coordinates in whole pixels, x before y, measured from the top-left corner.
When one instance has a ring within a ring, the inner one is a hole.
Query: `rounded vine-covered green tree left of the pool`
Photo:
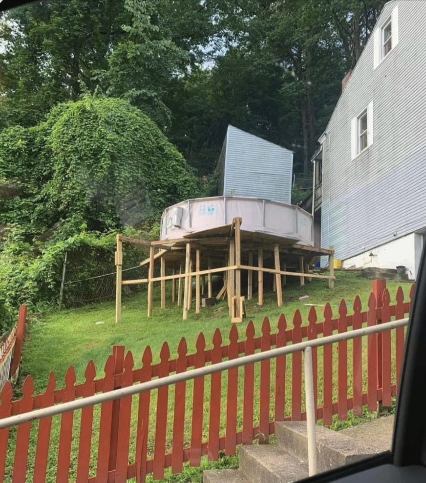
[[[35,127],[3,130],[0,181],[19,187],[1,199],[1,219],[28,236],[52,228],[69,236],[82,224],[141,226],[197,194],[188,165],[158,127],[128,101],[104,97],[59,104]]]

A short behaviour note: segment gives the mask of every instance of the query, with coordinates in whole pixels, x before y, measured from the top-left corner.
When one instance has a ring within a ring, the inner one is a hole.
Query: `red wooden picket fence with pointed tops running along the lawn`
[[[362,311],[360,298],[356,297],[353,315],[347,315],[346,303],[342,301],[337,319],[332,318],[332,308],[327,304],[323,311],[324,320],[318,322],[317,312],[311,307],[308,325],[302,326],[300,313],[296,311],[293,327],[288,329],[286,319],[281,315],[278,331],[274,334],[271,334],[270,323],[265,318],[260,337],[255,337],[253,322],[247,324],[245,341],[238,340],[238,330],[233,325],[227,345],[222,345],[222,335],[216,329],[213,347],[206,349],[201,333],[194,354],[187,353],[186,341],[182,339],[178,357],[172,360],[165,342],[160,362],[156,364],[152,363],[151,349],[147,347],[140,368],[134,368],[130,352],[125,356],[124,347],[115,346],[113,355],[106,361],[104,377],[95,379],[95,367],[90,361],[85,370],[85,382],[76,384],[75,370],[70,366],[64,378],[64,388],[55,389],[55,378],[51,373],[45,393],[33,395],[34,384],[28,376],[19,401],[12,401],[12,388],[7,382],[1,391],[0,418],[203,367],[223,359],[253,354],[258,350],[266,351],[302,342],[303,339],[329,336],[335,331],[346,332],[351,327],[359,329],[365,323],[371,326],[389,322],[392,317],[403,319],[409,313],[410,302],[404,302],[401,287],[394,305],[390,304],[388,290],[380,283],[376,283],[374,291],[379,303],[372,293],[367,310]],[[412,293],[411,290],[410,297]],[[335,344],[337,350],[333,350],[332,344],[322,350],[313,349],[317,420],[331,424],[333,415],[337,415],[339,420],[346,420],[349,410],[361,416],[363,406],[367,406],[369,411],[376,411],[378,402],[382,402],[383,406],[392,404],[392,397],[397,394],[405,337],[404,328],[392,332],[369,335],[364,346],[359,338],[354,339],[349,348],[348,342],[343,341]],[[318,377],[321,372],[322,379]],[[334,375],[337,388],[333,384]],[[291,392],[288,391],[290,387]],[[189,399],[190,404],[186,407]],[[26,478],[34,483],[46,481],[49,458],[51,461],[49,451],[53,451],[54,446],[57,447],[54,473],[58,482],[120,483],[134,477],[138,482],[144,482],[149,473],[154,479],[162,479],[165,468],[171,467],[173,473],[179,473],[183,463],[189,461],[192,466],[197,466],[204,455],[212,461],[218,459],[222,450],[228,455],[235,454],[236,445],[241,443],[251,444],[255,439],[259,443],[268,443],[269,435],[274,433],[275,421],[306,419],[303,405],[300,352],[292,357],[280,356],[275,361],[262,361],[256,367],[248,364],[240,371],[234,368],[226,374],[197,378],[192,385],[179,382],[171,388],[160,388],[154,395],[141,393],[133,401],[129,396],[104,402],[98,410],[87,406],[81,410],[80,419],[73,412],[63,413],[55,417],[59,418],[56,439],[52,436],[51,417],[33,425],[20,424],[17,430],[2,429],[0,483],[5,478],[11,478],[13,483],[24,482]],[[132,425],[133,420],[135,425]]]

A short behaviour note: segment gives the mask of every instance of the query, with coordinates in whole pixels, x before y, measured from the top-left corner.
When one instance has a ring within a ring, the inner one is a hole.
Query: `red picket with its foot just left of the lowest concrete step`
[[[197,349],[195,353],[194,369],[204,367],[206,361],[206,341],[201,332],[195,344]],[[191,466],[199,466],[201,462],[201,445],[203,436],[203,412],[204,412],[204,377],[194,379],[194,390],[192,396],[192,425],[191,425]]]

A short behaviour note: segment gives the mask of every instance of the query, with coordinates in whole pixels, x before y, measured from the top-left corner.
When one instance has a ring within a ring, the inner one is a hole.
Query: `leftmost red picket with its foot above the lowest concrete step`
[[[212,364],[222,362],[222,335],[219,329],[214,331]],[[209,461],[219,458],[219,432],[220,432],[220,399],[222,394],[222,373],[212,374],[210,386],[210,419],[209,419]],[[1,406],[0,406],[1,409]]]

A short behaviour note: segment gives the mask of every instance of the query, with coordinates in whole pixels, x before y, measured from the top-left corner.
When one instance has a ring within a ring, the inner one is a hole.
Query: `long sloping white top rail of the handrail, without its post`
[[[408,324],[408,319],[401,319],[399,321],[386,322],[371,327],[364,327],[362,329],[352,330],[351,332],[344,332],[341,334],[335,334],[332,336],[321,337],[320,339],[314,339],[306,342],[299,342],[298,344],[286,345],[277,349],[267,350],[265,352],[258,352],[250,356],[239,357],[230,361],[218,362],[206,367],[200,367],[198,369],[192,369],[188,372],[182,372],[180,374],[173,374],[153,381],[142,382],[121,389],[115,389],[113,391],[104,392],[101,394],[95,394],[87,398],[77,399],[75,401],[63,402],[56,406],[45,407],[42,409],[36,409],[27,413],[17,414],[16,416],[10,416],[8,418],[0,419],[0,429],[15,426],[17,424],[28,423],[29,421],[35,421],[50,416],[56,416],[57,414],[66,413],[68,411],[76,411],[86,406],[92,406],[94,404],[101,404],[102,402],[114,401],[115,399],[124,398],[126,396],[132,396],[133,394],[139,394],[141,392],[152,391],[160,387],[176,384],[177,382],[190,381],[197,377],[208,376],[216,372],[222,372],[235,367],[241,367],[246,364],[252,364],[254,362],[265,361],[268,359],[274,359],[275,357],[293,354],[294,352],[301,352],[306,347],[320,347],[322,345],[331,344],[333,342],[349,341],[356,337],[362,337],[368,334],[377,334],[385,330],[395,329],[397,327],[403,327]]]

